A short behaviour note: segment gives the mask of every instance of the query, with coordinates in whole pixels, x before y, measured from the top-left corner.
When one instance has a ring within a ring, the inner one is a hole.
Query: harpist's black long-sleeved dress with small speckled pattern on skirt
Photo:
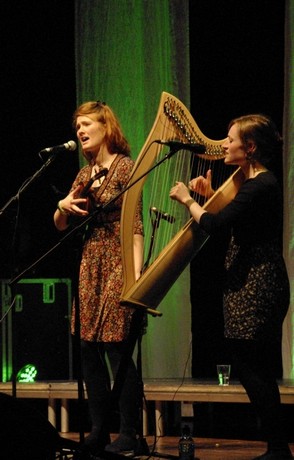
[[[289,280],[280,237],[282,197],[271,172],[241,186],[218,214],[203,214],[208,233],[227,227],[231,241],[224,270],[225,337],[279,340],[289,307]]]

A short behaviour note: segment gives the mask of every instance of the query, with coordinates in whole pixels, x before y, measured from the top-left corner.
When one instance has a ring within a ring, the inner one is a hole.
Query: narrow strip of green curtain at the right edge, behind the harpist
[[[284,377],[294,378],[294,0],[285,12],[284,101],[284,254],[291,285],[290,310],[283,331]]]

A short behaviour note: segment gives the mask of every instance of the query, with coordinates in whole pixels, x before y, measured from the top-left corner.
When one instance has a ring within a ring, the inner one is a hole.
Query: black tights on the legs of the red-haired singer
[[[88,394],[92,431],[101,438],[109,435],[109,415],[113,409],[111,378],[106,362],[109,359],[113,379],[116,379],[121,359],[126,355],[125,342],[86,342],[81,340],[83,378]],[[120,433],[134,436],[139,421],[139,380],[132,358],[123,372],[119,369],[118,405]]]

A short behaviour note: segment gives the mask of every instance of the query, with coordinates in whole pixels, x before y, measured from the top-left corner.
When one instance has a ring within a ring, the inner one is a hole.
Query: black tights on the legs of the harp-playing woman
[[[273,360],[276,344],[268,341],[227,341],[232,366],[260,420],[269,448],[286,445],[282,427],[281,401]]]

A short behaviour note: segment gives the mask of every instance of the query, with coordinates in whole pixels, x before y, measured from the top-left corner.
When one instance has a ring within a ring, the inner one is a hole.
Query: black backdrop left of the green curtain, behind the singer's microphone
[[[78,168],[77,152],[58,155],[17,197],[48,159],[38,152],[73,138],[74,5],[12,0],[1,3],[0,18],[0,278],[10,278],[59,239],[52,220],[58,192],[67,191]],[[26,277],[62,276],[69,270],[66,252],[59,249]]]

